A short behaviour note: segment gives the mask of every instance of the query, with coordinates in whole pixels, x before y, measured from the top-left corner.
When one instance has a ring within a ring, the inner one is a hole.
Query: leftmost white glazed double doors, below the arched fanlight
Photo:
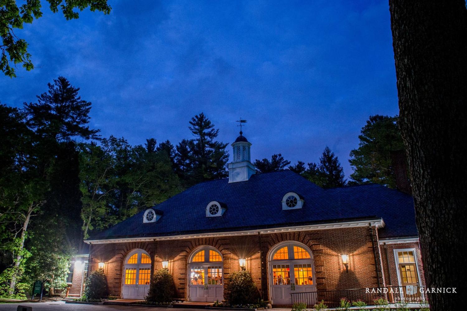
[[[125,299],[144,299],[148,295],[151,280],[151,265],[126,265],[123,282]]]

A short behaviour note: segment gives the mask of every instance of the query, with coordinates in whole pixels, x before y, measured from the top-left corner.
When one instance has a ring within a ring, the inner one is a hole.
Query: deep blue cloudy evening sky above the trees
[[[398,113],[387,0],[109,3],[75,21],[44,5],[16,32],[37,68],[0,76],[0,101],[35,101],[62,75],[104,137],[177,143],[204,111],[232,143],[242,117],[253,159],[316,162],[328,145],[346,177],[368,116]]]

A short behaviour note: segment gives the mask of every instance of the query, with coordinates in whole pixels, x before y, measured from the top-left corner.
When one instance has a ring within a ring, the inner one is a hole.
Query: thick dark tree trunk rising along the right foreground
[[[427,286],[465,288],[467,10],[464,0],[389,0],[399,94]],[[403,215],[402,215],[403,216]],[[460,310],[462,294],[428,294]]]

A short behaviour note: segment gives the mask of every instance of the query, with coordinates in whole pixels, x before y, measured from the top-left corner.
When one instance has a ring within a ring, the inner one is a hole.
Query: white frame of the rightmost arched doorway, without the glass
[[[279,250],[279,249],[282,249],[283,247],[287,246],[288,247],[288,257],[289,259],[284,259],[284,260],[273,260],[273,257],[274,255],[276,254],[276,251]],[[308,254],[310,254],[310,258],[307,258],[307,259],[295,259],[293,256],[293,247],[294,246],[298,246],[298,247],[301,247],[302,249],[306,250],[308,252]],[[277,265],[277,264],[288,264],[289,265],[289,276],[290,276],[290,284],[292,283],[295,283],[295,274],[294,274],[294,267],[293,265],[294,264],[311,264],[311,277],[312,277],[312,281],[313,281],[313,284],[312,285],[307,285],[309,287],[312,287],[313,290],[311,291],[316,291],[316,276],[315,276],[315,264],[314,264],[314,260],[313,260],[313,253],[311,252],[311,249],[306,246],[305,244],[303,243],[300,243],[300,242],[296,242],[296,241],[284,241],[284,242],[280,242],[278,244],[276,244],[274,247],[272,247],[270,250],[269,250],[269,255],[268,255],[268,261],[269,261],[269,264],[268,264],[268,268],[269,268],[269,277],[268,277],[268,280],[269,280],[269,293],[270,293],[270,300],[272,302],[272,304],[274,304],[274,278],[273,278],[273,271],[272,271],[272,266],[273,265]],[[298,286],[298,289],[300,289],[300,286],[303,286],[303,285],[297,285],[295,284],[295,290],[297,290],[297,286]],[[291,285],[289,285],[291,286]],[[290,300],[290,304],[291,304],[291,300]]]

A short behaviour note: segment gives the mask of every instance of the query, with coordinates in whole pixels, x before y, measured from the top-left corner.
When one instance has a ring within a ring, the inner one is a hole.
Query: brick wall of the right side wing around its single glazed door
[[[425,274],[423,271],[422,265],[422,256],[420,253],[420,245],[418,242],[410,242],[410,243],[397,243],[397,244],[382,244],[382,265],[384,274],[386,275],[387,281],[386,285],[393,285],[397,286],[399,284],[399,280],[397,279],[397,269],[398,265],[396,263],[396,258],[394,257],[394,249],[415,249],[416,256],[417,256],[417,264],[418,264],[418,273],[420,274],[421,285],[425,286]],[[389,259],[389,269],[388,269],[388,259]],[[390,276],[390,280],[389,280]]]

